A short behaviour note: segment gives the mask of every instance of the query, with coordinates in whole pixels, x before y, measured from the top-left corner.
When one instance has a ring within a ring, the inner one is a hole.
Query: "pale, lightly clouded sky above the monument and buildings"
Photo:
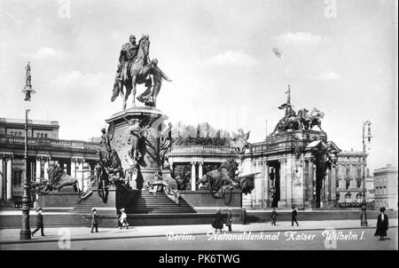
[[[169,122],[251,130],[249,142],[262,141],[290,84],[294,109],[322,110],[341,150],[362,150],[370,120],[369,168],[397,166],[393,0],[0,0],[0,117],[22,119],[29,107],[29,118],[59,122],[59,138],[100,136],[122,107],[110,99],[131,34],[150,36],[150,57],[172,80],[157,101]]]

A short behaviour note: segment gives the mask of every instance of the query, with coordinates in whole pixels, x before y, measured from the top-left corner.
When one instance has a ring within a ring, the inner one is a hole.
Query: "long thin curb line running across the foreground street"
[[[397,228],[398,226],[389,226],[390,228]],[[319,230],[325,230],[326,228],[332,228],[332,227],[325,227],[325,228],[310,228],[310,229],[294,229],[293,231],[319,231]],[[344,228],[336,228],[337,230],[353,230],[353,229],[375,229],[376,227],[344,227]],[[276,230],[257,230],[257,231],[251,231],[251,230],[245,230],[245,231],[232,231],[228,233],[243,233],[243,232],[252,232],[252,233],[270,233],[270,232],[288,232],[290,230],[287,229],[276,229]],[[227,233],[227,232],[224,232]],[[207,233],[187,233],[188,235],[205,235]],[[137,235],[137,236],[116,236],[116,237],[85,237],[85,238],[71,238],[72,241],[84,241],[84,240],[118,240],[118,239],[138,239],[138,238],[147,238],[147,237],[164,237],[165,234],[154,234],[154,235]],[[49,239],[49,240],[18,240],[18,241],[0,241],[0,246],[1,245],[12,245],[12,244],[29,244],[29,243],[47,243],[47,242],[58,242],[58,239]]]

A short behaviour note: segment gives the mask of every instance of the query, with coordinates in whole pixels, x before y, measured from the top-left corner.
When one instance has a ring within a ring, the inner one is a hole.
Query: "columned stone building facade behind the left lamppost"
[[[25,122],[0,119],[0,202],[19,203],[25,175],[31,181],[48,178],[46,169],[59,164],[79,180],[82,191],[98,161],[98,143],[59,139],[59,123],[28,121],[27,171],[24,165]],[[25,174],[27,172],[27,174]]]

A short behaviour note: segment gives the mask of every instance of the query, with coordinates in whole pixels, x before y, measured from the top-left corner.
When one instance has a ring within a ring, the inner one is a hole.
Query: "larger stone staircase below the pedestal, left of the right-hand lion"
[[[183,198],[180,198],[180,206],[177,206],[163,191],[157,192],[154,196],[148,190],[142,190],[138,194],[134,205],[129,207],[127,212],[129,214],[197,213]]]

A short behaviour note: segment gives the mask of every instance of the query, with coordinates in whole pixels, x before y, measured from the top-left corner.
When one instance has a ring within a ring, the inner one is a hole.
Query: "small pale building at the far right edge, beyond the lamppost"
[[[397,168],[387,167],[374,170],[374,199],[376,208],[397,209]]]

